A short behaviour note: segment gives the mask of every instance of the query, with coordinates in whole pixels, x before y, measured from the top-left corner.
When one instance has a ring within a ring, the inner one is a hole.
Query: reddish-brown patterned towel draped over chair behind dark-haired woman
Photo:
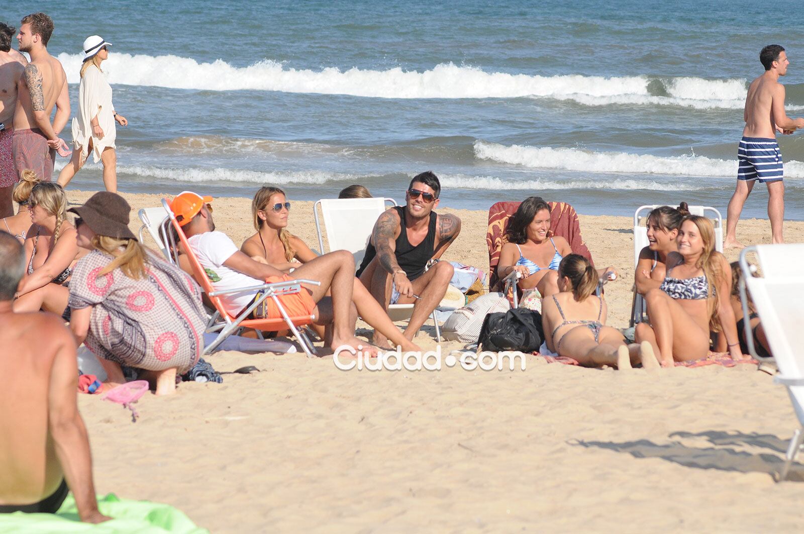
[[[497,264],[500,251],[508,242],[508,222],[521,202],[506,201],[495,203],[489,208],[489,228],[486,231],[486,246],[489,248],[489,289],[502,291],[497,277]],[[580,223],[575,208],[564,202],[548,202],[550,206],[550,231],[554,236],[564,237],[573,253],[580,254],[592,262],[592,253],[586,248],[580,235]]]

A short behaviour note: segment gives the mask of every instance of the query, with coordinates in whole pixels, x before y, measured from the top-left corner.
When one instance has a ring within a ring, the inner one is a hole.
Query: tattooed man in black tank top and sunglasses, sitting
[[[416,332],[444,298],[453,266],[437,262],[425,271],[431,258],[439,258],[461,232],[461,220],[437,215],[441,183],[432,171],[416,175],[408,187],[404,206],[384,212],[371,232],[366,255],[357,271],[374,298],[388,310],[389,304],[410,304],[413,314],[404,336]],[[374,343],[386,347],[388,339],[375,332]]]

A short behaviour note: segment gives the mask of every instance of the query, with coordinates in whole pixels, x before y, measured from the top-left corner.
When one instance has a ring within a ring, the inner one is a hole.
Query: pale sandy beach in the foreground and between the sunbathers
[[[68,190],[71,203],[90,195]],[[133,213],[162,198],[123,196]],[[289,200],[289,230],[318,248],[313,204]],[[213,206],[236,243],[252,234],[250,199]],[[441,207],[462,220],[445,259],[487,271],[486,209]],[[606,286],[613,327],[630,314],[631,225],[580,216],[597,266],[621,275]],[[804,241],[804,222],[787,222],[785,236]],[[738,237],[768,242],[769,223],[742,220]],[[432,326],[416,343],[435,346]],[[797,421],[785,389],[752,365],[648,374],[528,356],[514,372],[343,372],[303,355],[208,361],[261,372],[147,395],[134,424],[127,409],[80,397],[99,493],[170,503],[211,532],[804,528],[804,467],[788,483],[772,477]]]

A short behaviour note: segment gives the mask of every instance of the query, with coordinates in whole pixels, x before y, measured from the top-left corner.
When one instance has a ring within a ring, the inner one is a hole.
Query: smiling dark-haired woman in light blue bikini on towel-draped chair
[[[508,242],[500,250],[497,276],[502,280],[514,271],[522,275],[520,290],[538,290],[549,297],[558,293],[558,265],[572,253],[564,237],[550,232],[550,205],[539,196],[531,196],[519,204],[508,225]],[[544,265],[544,266],[543,266]],[[600,269],[617,273],[613,267]]]

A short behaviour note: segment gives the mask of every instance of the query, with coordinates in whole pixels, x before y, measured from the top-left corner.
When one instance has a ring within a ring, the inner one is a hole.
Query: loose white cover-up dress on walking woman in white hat
[[[103,129],[103,139],[92,136],[92,118],[98,116],[98,124]],[[103,72],[95,65],[89,65],[78,89],[78,117],[72,119],[72,142],[81,151],[81,160],[88,156],[89,138],[92,138],[92,161],[100,161],[100,153],[109,146],[116,148],[117,128],[112,105],[112,86],[106,81]]]

